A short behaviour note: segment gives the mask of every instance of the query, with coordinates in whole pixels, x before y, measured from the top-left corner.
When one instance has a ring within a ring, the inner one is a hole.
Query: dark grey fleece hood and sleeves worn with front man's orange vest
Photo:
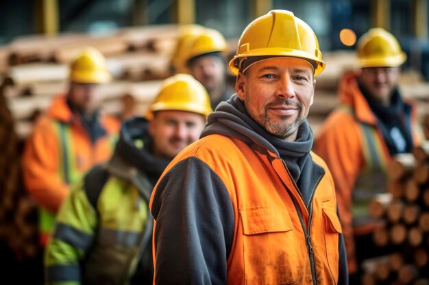
[[[307,122],[299,128],[297,141],[286,143],[252,120],[233,95],[208,116],[201,137],[211,134],[236,137],[251,147],[279,154],[299,189],[304,189],[302,196],[311,210],[324,169],[308,153],[312,133]],[[189,157],[171,167],[158,182],[151,213],[156,219],[155,245],[162,245],[154,248],[155,284],[227,284],[234,211],[228,190],[204,161]],[[347,262],[342,235],[339,252],[339,284],[343,285],[347,284]]]

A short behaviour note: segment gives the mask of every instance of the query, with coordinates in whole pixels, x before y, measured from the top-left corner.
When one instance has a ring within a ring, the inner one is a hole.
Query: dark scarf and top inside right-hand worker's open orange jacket
[[[389,105],[382,105],[369,95],[363,85],[359,84],[359,87],[377,118],[389,153],[410,152],[413,148],[413,136],[410,128],[411,106],[404,103],[399,90],[395,89]]]

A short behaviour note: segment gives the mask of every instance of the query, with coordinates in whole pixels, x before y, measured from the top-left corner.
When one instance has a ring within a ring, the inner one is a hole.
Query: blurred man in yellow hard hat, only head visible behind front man
[[[215,29],[196,29],[186,37],[182,47],[184,64],[206,87],[213,109],[228,100],[234,90],[227,83],[224,55],[227,44],[222,34]]]

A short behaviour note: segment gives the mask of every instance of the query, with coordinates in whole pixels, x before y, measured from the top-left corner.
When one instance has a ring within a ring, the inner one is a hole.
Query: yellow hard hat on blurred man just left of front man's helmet
[[[191,38],[187,46],[185,62],[206,53],[223,53],[227,49],[225,38],[215,29],[206,28],[203,33]]]

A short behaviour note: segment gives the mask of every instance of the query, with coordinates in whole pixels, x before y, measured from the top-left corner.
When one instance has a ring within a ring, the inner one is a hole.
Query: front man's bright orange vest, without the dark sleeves
[[[188,157],[204,161],[230,195],[234,239],[228,284],[337,284],[341,224],[334,182],[317,155],[311,153],[326,173],[313,190],[310,211],[284,161],[272,152],[208,135],[178,154],[164,174]],[[152,199],[155,193],[156,188]],[[156,256],[154,262],[156,267]]]

